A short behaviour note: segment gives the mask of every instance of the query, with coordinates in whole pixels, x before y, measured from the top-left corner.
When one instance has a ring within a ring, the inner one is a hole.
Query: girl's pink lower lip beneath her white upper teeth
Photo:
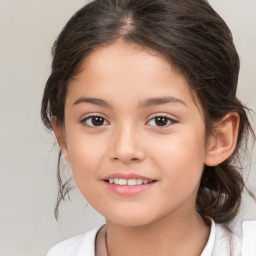
[[[107,187],[115,192],[118,195],[121,196],[134,196],[134,195],[138,195],[141,192],[150,189],[152,186],[154,186],[156,182],[150,182],[148,184],[142,184],[142,185],[134,185],[134,186],[121,186],[121,185],[117,185],[114,183],[109,183],[105,181],[105,184],[107,185]]]

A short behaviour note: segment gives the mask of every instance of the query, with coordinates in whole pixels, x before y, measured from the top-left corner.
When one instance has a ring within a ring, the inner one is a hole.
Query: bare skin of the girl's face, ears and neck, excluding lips
[[[145,104],[166,97],[169,102]],[[93,126],[92,115],[103,124]],[[159,116],[166,125],[157,125]],[[108,254],[165,256],[202,252],[209,225],[195,204],[203,167],[230,156],[238,123],[230,113],[207,138],[202,108],[185,78],[152,50],[117,41],[83,60],[69,85],[65,126],[54,118],[53,128],[78,188],[106,218]],[[103,181],[116,172],[156,182],[138,195],[120,196]]]

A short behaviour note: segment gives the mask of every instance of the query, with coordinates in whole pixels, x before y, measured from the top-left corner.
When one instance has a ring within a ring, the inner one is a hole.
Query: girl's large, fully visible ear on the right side
[[[205,165],[216,166],[228,159],[236,148],[239,114],[230,112],[215,124],[214,134],[208,138]]]

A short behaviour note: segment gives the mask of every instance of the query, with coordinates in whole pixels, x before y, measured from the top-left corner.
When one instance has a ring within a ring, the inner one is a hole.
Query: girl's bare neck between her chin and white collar
[[[108,256],[200,255],[208,237],[209,226],[197,212],[136,227],[107,221]]]

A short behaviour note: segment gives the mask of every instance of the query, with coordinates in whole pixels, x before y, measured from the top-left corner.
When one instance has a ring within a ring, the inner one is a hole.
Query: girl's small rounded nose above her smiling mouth
[[[112,161],[129,164],[144,160],[143,142],[136,129],[125,125],[116,129],[113,133],[114,135],[110,142],[110,158]]]

